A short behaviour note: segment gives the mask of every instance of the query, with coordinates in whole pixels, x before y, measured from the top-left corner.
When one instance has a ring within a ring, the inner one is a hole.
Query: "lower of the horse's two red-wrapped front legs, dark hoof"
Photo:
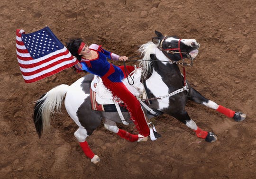
[[[215,142],[218,140],[217,135],[214,133],[204,131],[198,127],[185,110],[183,112],[173,113],[171,116],[174,116],[176,119],[187,125],[196,133],[197,137],[205,139],[206,142]]]

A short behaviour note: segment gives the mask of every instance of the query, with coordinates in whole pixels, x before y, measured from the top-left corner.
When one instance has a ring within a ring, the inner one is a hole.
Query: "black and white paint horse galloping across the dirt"
[[[163,36],[157,31],[155,34],[156,37],[152,39],[152,42],[141,45],[139,48],[143,56],[140,62],[140,67],[143,70],[142,81],[148,89],[147,98],[150,98],[148,107],[154,109],[158,114],[166,113],[174,116],[207,142],[216,141],[217,136],[212,132],[201,130],[190,118],[185,110],[187,100],[215,109],[234,118],[235,121],[242,121],[246,118],[246,115],[241,112],[232,111],[204,98],[189,85],[185,80],[185,75],[181,74],[177,62],[184,58],[189,58],[192,61],[196,57],[200,47],[196,40]],[[101,124],[102,120],[106,129],[118,134],[119,128],[116,123],[121,123],[121,119],[117,112],[91,110],[90,87],[93,78],[94,75],[88,74],[70,86],[59,85],[37,101],[33,118],[39,137],[49,129],[52,114],[60,111],[64,97],[65,108],[79,127],[74,136],[80,143],[86,141],[86,138]],[[129,121],[128,112],[123,112],[123,116]],[[147,116],[148,118],[154,117],[150,113]],[[131,136],[134,134],[127,132],[126,136],[128,137],[125,139],[129,140],[129,137],[132,138]],[[145,137],[138,136],[137,139],[138,142],[145,141]],[[97,155],[91,157],[91,162],[97,163],[98,161],[100,159]]]

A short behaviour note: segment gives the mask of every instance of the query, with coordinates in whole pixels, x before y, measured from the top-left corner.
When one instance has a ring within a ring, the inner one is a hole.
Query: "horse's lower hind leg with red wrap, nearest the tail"
[[[92,151],[91,148],[89,147],[86,138],[88,137],[87,131],[83,127],[79,127],[75,133],[74,133],[75,138],[79,142],[82,151],[84,154],[91,159],[91,162],[96,164],[100,161],[100,158],[98,155],[95,155]]]

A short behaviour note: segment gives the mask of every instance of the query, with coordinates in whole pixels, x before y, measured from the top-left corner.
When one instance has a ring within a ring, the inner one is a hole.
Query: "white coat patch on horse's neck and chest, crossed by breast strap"
[[[153,71],[151,77],[146,80],[147,88],[153,93],[155,97],[167,95],[169,92],[168,86],[162,81],[162,77]],[[169,98],[159,99],[159,110],[169,107]]]

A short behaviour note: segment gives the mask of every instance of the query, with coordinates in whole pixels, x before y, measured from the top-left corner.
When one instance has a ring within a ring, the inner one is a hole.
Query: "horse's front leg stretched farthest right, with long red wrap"
[[[204,98],[197,90],[191,88],[189,90],[188,99],[192,100],[196,103],[202,104],[206,107],[210,107],[212,109],[217,110],[218,112],[224,114],[227,117],[233,118],[235,121],[243,121],[246,118],[246,114],[242,112],[236,112],[229,108],[223,107],[221,105],[218,105],[217,103]]]

